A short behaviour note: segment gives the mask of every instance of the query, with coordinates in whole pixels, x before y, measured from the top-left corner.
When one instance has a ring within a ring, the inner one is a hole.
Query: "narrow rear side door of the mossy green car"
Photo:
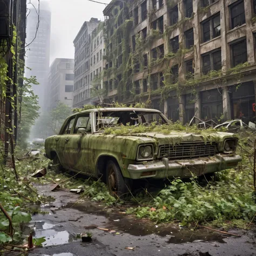
[[[59,161],[64,167],[67,165],[67,161],[65,159],[65,151],[67,150],[66,139],[72,131],[73,124],[75,124],[75,119],[76,116],[70,117],[68,121],[63,124],[59,134],[53,138],[55,140],[56,153],[58,155]]]

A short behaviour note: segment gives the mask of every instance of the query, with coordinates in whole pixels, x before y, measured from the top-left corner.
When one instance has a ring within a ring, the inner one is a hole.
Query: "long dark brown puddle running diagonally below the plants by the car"
[[[213,233],[206,229],[191,231],[186,228],[180,229],[179,226],[175,224],[159,224],[156,226],[150,220],[137,219],[133,215],[116,213],[111,211],[111,209],[100,211],[102,210],[103,206],[99,206],[98,204],[92,202],[78,203],[76,205],[70,203],[67,204],[65,208],[69,208],[71,206],[72,208],[76,208],[81,212],[105,216],[109,219],[109,222],[104,225],[104,228],[129,233],[134,236],[156,234],[160,237],[166,237],[167,243],[171,244],[181,244],[184,242],[193,242],[197,240],[218,241],[225,243],[223,239],[226,237],[224,235]]]

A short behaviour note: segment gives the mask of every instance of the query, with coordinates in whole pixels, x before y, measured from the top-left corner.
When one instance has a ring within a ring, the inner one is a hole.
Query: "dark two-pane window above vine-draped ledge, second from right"
[[[221,50],[214,50],[212,52],[205,53],[203,56],[203,73],[207,73],[211,70],[221,70]]]

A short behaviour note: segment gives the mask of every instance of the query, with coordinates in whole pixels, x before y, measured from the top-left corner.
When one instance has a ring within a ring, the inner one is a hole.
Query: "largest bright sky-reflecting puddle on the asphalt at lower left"
[[[39,230],[36,231],[35,238],[45,237],[43,246],[64,245],[73,241],[73,235],[68,231]]]

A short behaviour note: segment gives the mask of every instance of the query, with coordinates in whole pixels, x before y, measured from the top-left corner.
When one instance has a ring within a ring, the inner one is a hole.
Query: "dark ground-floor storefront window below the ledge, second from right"
[[[201,118],[217,120],[223,114],[223,96],[221,89],[201,92]]]

